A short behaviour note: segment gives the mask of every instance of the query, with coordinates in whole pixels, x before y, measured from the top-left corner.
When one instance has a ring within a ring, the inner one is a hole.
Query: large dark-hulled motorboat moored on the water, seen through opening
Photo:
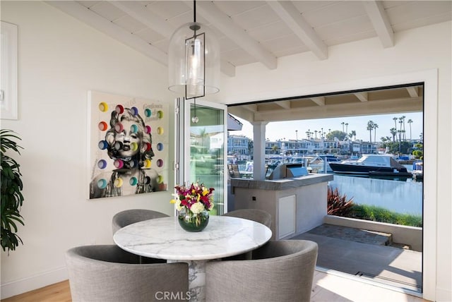
[[[362,155],[356,161],[330,162],[330,167],[340,174],[412,176],[391,155]]]

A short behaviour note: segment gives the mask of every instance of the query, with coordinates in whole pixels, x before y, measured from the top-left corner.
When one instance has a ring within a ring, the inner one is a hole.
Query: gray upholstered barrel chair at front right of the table
[[[309,301],[318,246],[313,241],[269,241],[252,260],[206,263],[206,301]]]

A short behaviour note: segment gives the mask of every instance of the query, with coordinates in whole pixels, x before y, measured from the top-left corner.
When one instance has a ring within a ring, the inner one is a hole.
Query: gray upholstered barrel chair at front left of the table
[[[137,255],[115,245],[71,248],[66,252],[66,266],[72,301],[161,301],[165,292],[186,300],[188,264],[138,261]]]

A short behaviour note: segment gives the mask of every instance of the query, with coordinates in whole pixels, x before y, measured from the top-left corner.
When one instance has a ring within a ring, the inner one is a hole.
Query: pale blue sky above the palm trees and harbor
[[[356,139],[369,141],[369,131],[367,130],[367,122],[374,121],[378,125],[376,128],[376,141],[381,141],[381,137],[389,136],[392,138],[389,129],[394,128],[394,117],[399,118],[400,116],[405,116],[405,135],[407,139],[410,139],[410,125],[407,123],[409,119],[412,120],[411,123],[411,138],[420,138],[420,133],[423,132],[422,128],[422,112],[416,113],[398,113],[398,114],[380,114],[380,115],[369,115],[369,116],[347,116],[332,119],[310,119],[303,121],[278,121],[270,122],[266,126],[266,138],[269,140],[295,140],[302,138],[307,138],[306,132],[310,129],[311,132],[315,130],[328,133],[328,129],[331,131],[346,131],[350,133],[351,131],[356,131]],[[243,123],[242,131],[230,131],[232,135],[244,135],[248,138],[253,138],[253,126],[248,121],[236,117],[239,121]],[[348,123],[348,127],[342,123]],[[400,127],[400,123],[397,121],[397,129]],[[297,132],[298,131],[298,132]],[[319,133],[317,137],[320,138]],[[313,136],[315,138],[315,134]],[[372,131],[372,141],[374,141],[374,131]]]

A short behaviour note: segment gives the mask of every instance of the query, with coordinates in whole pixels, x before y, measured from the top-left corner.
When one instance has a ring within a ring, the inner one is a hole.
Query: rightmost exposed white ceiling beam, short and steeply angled
[[[381,40],[383,47],[394,46],[394,32],[389,22],[388,16],[384,11],[383,1],[362,1],[366,9],[367,16],[369,16],[376,34]]]

